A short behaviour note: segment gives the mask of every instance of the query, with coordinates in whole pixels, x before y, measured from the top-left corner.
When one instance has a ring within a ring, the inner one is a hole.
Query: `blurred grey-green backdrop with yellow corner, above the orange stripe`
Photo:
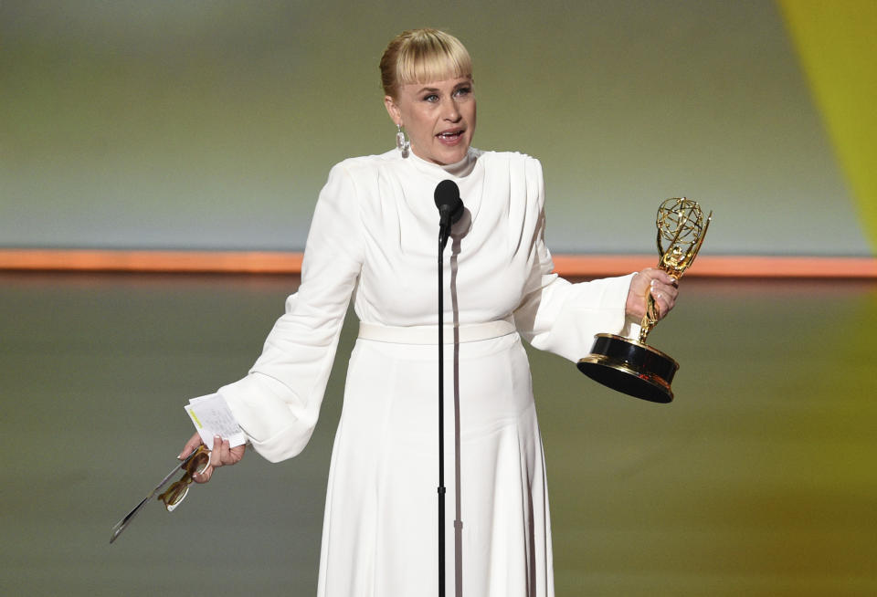
[[[542,160],[555,252],[650,253],[657,205],[687,195],[715,211],[710,253],[870,256],[875,16],[871,1],[5,0],[0,247],[301,249],[332,164],[393,146],[386,42],[437,26],[475,60],[476,146]]]

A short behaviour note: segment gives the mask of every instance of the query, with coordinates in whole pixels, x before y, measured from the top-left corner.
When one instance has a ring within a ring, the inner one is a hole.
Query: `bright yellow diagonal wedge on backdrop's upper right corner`
[[[877,1],[777,1],[877,253]]]

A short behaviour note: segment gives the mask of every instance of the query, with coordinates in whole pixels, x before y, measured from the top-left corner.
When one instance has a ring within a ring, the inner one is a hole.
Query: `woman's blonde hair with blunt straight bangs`
[[[384,93],[396,98],[399,87],[472,76],[472,59],[457,37],[439,29],[409,29],[394,37],[381,57]]]

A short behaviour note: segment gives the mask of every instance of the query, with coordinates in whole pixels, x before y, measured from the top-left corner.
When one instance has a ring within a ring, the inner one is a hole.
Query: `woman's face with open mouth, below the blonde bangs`
[[[475,134],[470,77],[402,85],[397,96],[384,98],[386,111],[405,127],[411,151],[418,158],[447,165],[466,157]]]

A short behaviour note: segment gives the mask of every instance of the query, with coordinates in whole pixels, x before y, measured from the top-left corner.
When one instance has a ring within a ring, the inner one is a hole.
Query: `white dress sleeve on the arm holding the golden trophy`
[[[633,275],[573,284],[554,272],[545,246],[542,167],[530,164],[538,185],[530,244],[532,268],[520,306],[514,312],[522,337],[535,348],[578,361],[590,351],[597,333],[618,333],[627,321],[625,302]]]

